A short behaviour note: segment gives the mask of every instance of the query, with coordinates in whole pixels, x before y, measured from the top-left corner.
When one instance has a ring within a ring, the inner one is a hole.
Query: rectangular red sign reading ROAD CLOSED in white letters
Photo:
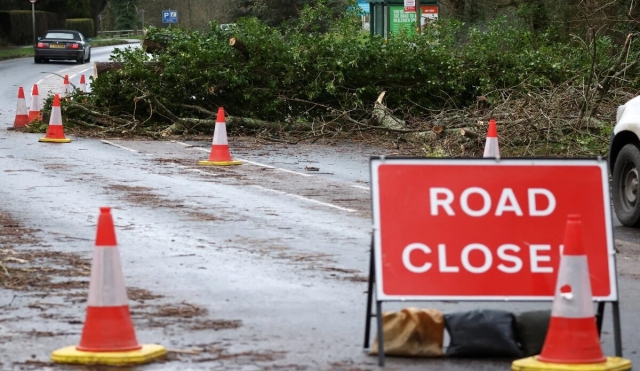
[[[604,160],[371,159],[378,300],[551,300],[580,214],[595,300],[617,300]]]

